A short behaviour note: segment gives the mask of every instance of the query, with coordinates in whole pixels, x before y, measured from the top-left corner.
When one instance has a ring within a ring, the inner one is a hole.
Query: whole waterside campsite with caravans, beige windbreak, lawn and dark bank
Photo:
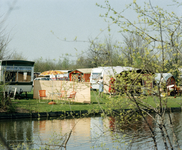
[[[1,67],[1,79],[6,90],[1,92],[1,101],[5,102],[5,105],[4,109],[0,109],[0,119],[46,118],[44,121],[40,120],[38,127],[40,131],[46,128],[48,132],[50,130],[48,121],[53,118],[66,122],[74,118],[84,122],[85,118],[92,120],[93,117],[99,117],[106,119],[103,124],[111,131],[120,128],[125,130],[132,128],[136,131],[136,127],[143,126],[148,132],[148,127],[141,124],[141,118],[137,117],[138,106],[131,104],[131,99],[137,99],[136,104],[144,106],[146,114],[158,110],[161,99],[165,102],[161,104],[166,113],[182,111],[180,82],[172,73],[155,73],[148,69],[126,66],[34,72],[34,62],[23,60],[4,62],[6,65]],[[22,65],[26,63],[26,67]],[[124,122],[118,126],[117,121],[121,119],[118,118],[118,114],[123,112],[129,119],[123,118]],[[152,119],[148,116],[146,118],[150,127],[155,128]],[[138,120],[136,123],[139,126],[133,125],[134,120]],[[85,132],[89,133],[93,123],[92,121],[87,123]],[[79,131],[83,125],[84,123],[77,125]],[[8,133],[8,130],[6,132]]]

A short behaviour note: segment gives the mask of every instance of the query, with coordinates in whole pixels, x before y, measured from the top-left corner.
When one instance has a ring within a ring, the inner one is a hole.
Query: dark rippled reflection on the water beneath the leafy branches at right
[[[152,117],[146,116],[146,120],[151,128],[155,128]],[[117,140],[115,141],[118,144],[124,142],[130,149],[135,147],[137,147],[137,149],[142,149],[146,147],[146,144],[152,144],[149,127],[141,117],[138,117],[135,114],[125,118],[119,116],[109,117],[109,127],[113,132],[113,138],[117,137]]]

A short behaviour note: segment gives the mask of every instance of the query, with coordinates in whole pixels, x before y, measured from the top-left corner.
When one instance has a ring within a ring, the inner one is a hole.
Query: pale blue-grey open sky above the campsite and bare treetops
[[[170,0],[152,0],[152,3],[163,6],[164,1]],[[122,10],[129,2],[132,0],[111,0],[111,5]],[[101,32],[108,23],[99,17],[106,10],[97,7],[96,3],[104,4],[104,0],[1,0],[0,16],[5,17],[3,25],[10,39],[8,49],[22,54],[27,60],[41,57],[59,60],[65,54],[76,60],[89,47],[84,41],[108,38],[107,30]],[[6,15],[11,5],[13,10]],[[126,15],[135,16],[132,12]],[[122,40],[116,26],[112,26],[111,36],[112,40]]]

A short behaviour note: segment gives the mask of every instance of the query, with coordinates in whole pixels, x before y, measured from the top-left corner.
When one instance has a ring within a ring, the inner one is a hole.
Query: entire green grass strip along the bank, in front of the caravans
[[[38,99],[33,99],[33,91],[28,93],[27,99],[20,100],[12,100],[14,106],[22,110],[22,112],[57,112],[57,111],[79,111],[79,110],[101,110],[101,109],[117,109],[121,108],[119,105],[122,105],[122,108],[129,108],[126,104],[126,97],[115,96],[113,98],[109,98],[109,95],[103,94],[103,97],[98,96],[97,91],[91,91],[91,104],[83,104],[83,103],[57,103],[56,105],[48,105],[50,100],[41,100],[39,103]],[[155,97],[155,100],[158,101],[158,98]],[[117,102],[118,104],[117,104]],[[154,97],[146,96],[143,98],[143,101],[152,105],[153,107],[157,107],[154,102]],[[116,105],[112,106],[111,103],[115,103]],[[168,98],[168,107],[181,107],[182,106],[182,97],[169,97]],[[20,111],[19,111],[20,112]]]

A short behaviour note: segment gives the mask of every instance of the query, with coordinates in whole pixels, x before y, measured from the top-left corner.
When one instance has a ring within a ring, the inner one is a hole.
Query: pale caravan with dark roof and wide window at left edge
[[[0,60],[0,80],[5,92],[31,92],[33,78],[33,61]]]

